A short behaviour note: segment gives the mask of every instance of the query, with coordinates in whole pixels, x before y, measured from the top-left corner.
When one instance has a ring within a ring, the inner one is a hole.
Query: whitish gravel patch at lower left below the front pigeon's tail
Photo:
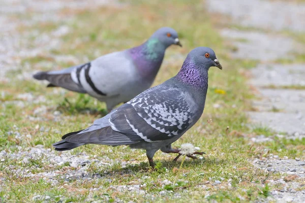
[[[77,155],[72,155],[70,151],[56,153],[54,150],[46,149],[43,145],[37,145],[34,148],[22,149],[18,147],[17,152],[2,151],[0,152],[0,160],[2,162],[9,163],[10,160],[20,162],[26,167],[18,167],[18,165],[6,165],[16,177],[35,177],[43,178],[51,182],[52,184],[58,183],[58,181],[64,180],[92,180],[92,178],[102,178],[100,174],[91,174],[88,172],[88,168],[91,163],[94,163],[100,171],[106,170],[107,166],[120,163],[117,160],[109,159],[107,156],[104,157],[89,157],[85,153],[79,153]],[[32,173],[33,170],[37,169],[35,164],[31,166],[32,160],[37,160],[41,162],[39,170],[44,171],[46,168],[56,168],[57,166],[69,166],[65,173],[63,170],[54,169],[47,170],[47,172]],[[111,180],[110,180],[111,181]]]

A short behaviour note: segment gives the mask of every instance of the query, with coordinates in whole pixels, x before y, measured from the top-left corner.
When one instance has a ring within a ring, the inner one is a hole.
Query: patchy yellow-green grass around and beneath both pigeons
[[[60,69],[75,65],[74,62],[58,62],[58,55],[73,55],[80,62],[86,62],[86,59],[138,45],[159,27],[170,26],[178,31],[184,47],[172,46],[166,51],[154,85],[174,76],[184,60],[176,56],[185,57],[197,46],[214,49],[224,67],[223,71],[216,68],[209,71],[209,90],[204,114],[191,130],[173,144],[174,147],[179,147],[183,143],[193,143],[207,155],[195,161],[187,158],[177,176],[181,158],[178,162],[172,162],[174,156],[167,156],[159,151],[155,155],[158,170],[147,171],[148,163],[143,150],[132,150],[125,146],[87,145],[72,150],[71,154],[80,155],[85,152],[90,159],[97,158],[107,162],[109,165],[103,167],[96,162],[88,165],[89,174],[99,174],[102,178],[65,181],[58,176],[55,177],[58,181],[55,185],[39,176],[23,177],[16,171],[20,169],[36,175],[57,171],[66,175],[67,171],[79,170],[80,166],[72,167],[69,162],[60,166],[50,165],[46,161],[47,154],[31,158],[27,163],[22,162],[23,157],[8,156],[0,162],[0,199],[28,202],[33,201],[34,196],[41,195],[41,201],[47,198],[51,202],[88,199],[113,202],[116,198],[125,202],[149,202],[152,199],[154,202],[201,202],[203,197],[206,197],[206,201],[248,202],[269,196],[269,191],[274,186],[265,182],[279,176],[254,168],[249,160],[266,156],[265,149],[279,156],[301,157],[303,154],[300,149],[305,144],[304,140],[276,140],[250,145],[249,138],[255,135],[272,136],[267,128],[249,128],[248,119],[243,113],[250,109],[249,100],[253,95],[249,93],[251,91],[246,85],[247,78],[240,70],[253,67],[258,61],[229,57],[230,48],[225,46],[224,39],[214,28],[212,15],[207,14],[199,1],[193,4],[160,0],[124,3],[128,4],[119,8],[105,6],[92,11],[69,11],[74,16],[65,23],[37,23],[20,28],[20,32],[35,29],[49,34],[64,24],[71,32],[59,38],[61,44],[58,49],[35,57],[22,58],[22,66],[28,69],[7,73],[11,81],[0,84],[5,92],[0,96],[0,151],[17,153],[19,150],[28,151],[37,145],[52,148],[51,144],[60,140],[63,134],[83,129],[104,115],[102,110],[105,105],[92,97],[45,88],[42,83],[32,79],[18,80],[14,76],[25,71],[48,70],[49,66]],[[67,10],[63,10],[63,15],[66,12]],[[31,14],[27,13],[24,18],[31,18]],[[19,98],[18,94],[24,92],[33,95],[35,99],[27,101]],[[45,99],[38,99],[41,96]],[[23,103],[18,106],[16,101]],[[214,107],[215,104],[218,108]],[[229,131],[226,131],[227,126]],[[45,130],[40,131],[42,127]],[[127,162],[126,167],[121,166],[121,161]],[[177,187],[164,186],[163,181],[173,182],[176,176]],[[215,184],[217,180],[221,180],[221,184]],[[128,190],[117,191],[115,188],[119,185],[140,185],[147,195]],[[173,192],[163,195],[162,191],[167,189]],[[179,198],[175,196],[177,194]]]

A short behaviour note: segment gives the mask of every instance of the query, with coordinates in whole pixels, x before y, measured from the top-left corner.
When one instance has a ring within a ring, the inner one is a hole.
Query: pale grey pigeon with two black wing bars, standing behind
[[[138,47],[109,53],[68,69],[39,72],[33,77],[49,81],[47,87],[87,93],[104,101],[110,112],[153,84],[165,50],[173,44],[182,46],[177,32],[162,27]]]

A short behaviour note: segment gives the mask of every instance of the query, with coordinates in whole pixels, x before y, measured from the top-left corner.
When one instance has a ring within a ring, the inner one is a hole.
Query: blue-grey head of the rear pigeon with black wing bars
[[[176,30],[170,27],[161,27],[150,37],[150,39],[157,39],[161,42],[165,47],[169,47],[170,45],[179,45],[182,47],[178,33]]]

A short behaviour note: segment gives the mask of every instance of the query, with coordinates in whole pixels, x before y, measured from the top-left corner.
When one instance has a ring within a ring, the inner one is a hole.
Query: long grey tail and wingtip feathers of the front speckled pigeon
[[[82,131],[65,134],[63,140],[54,143],[53,147],[56,151],[66,151],[86,144],[118,146],[140,142],[140,140],[131,140],[125,134],[112,130],[110,126],[81,133]]]

